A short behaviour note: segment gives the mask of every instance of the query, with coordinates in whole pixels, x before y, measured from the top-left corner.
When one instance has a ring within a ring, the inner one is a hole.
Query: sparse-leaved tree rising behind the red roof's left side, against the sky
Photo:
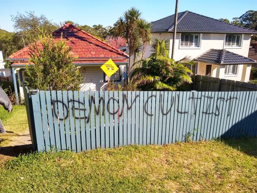
[[[51,34],[58,29],[58,25],[49,21],[45,15],[37,16],[34,12],[29,11],[26,14],[17,13],[11,15],[14,22],[14,29],[22,36],[25,45],[38,40],[39,35]]]

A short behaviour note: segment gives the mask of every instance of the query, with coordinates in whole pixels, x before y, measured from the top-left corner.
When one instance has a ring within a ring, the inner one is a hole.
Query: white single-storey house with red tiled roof
[[[123,83],[128,63],[128,55],[124,52],[69,23],[54,31],[52,35],[56,40],[60,40],[61,36],[68,40],[67,45],[72,48],[72,55],[77,57],[73,63],[78,66],[83,77],[83,83],[80,85],[82,91],[106,90],[107,77],[100,66],[110,58],[119,67],[119,70],[111,76],[111,80]],[[29,47],[15,52],[7,60],[12,62],[12,72],[13,75],[17,74],[20,94],[23,96],[21,82],[24,80],[25,66],[29,62]],[[15,93],[17,96],[17,87]]]

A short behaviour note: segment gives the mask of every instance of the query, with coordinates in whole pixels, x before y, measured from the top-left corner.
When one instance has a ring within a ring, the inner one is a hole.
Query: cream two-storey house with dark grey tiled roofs
[[[152,23],[153,38],[168,39],[172,51],[174,15]],[[248,58],[251,35],[257,31],[238,27],[204,15],[184,11],[178,13],[174,59],[188,57],[195,62],[194,74],[249,81],[251,65]],[[144,57],[151,54],[151,46]]]

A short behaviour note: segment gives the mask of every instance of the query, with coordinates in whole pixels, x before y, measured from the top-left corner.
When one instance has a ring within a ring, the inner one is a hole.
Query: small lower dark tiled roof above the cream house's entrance
[[[194,61],[220,65],[256,63],[255,60],[235,54],[226,49],[209,49],[204,54],[196,57]]]

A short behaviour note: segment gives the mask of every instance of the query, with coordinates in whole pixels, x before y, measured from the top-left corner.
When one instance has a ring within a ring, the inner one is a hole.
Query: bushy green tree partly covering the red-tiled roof
[[[41,37],[30,45],[30,64],[26,66],[26,83],[30,89],[79,90],[79,69],[72,63],[71,47],[66,41]]]

